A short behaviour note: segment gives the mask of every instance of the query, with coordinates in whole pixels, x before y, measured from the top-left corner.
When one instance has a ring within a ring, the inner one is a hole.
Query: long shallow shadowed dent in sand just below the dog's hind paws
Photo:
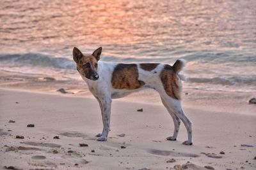
[[[200,157],[199,155],[196,155],[193,153],[173,152],[169,150],[149,149],[147,150],[147,152],[154,155],[163,155],[163,156],[172,155],[173,157]]]

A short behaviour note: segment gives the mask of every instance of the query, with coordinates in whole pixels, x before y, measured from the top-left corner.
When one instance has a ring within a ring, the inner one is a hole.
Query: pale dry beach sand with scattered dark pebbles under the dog
[[[209,92],[206,100],[187,91],[193,146],[182,145],[184,125],[177,141],[165,140],[172,119],[159,100],[147,103],[147,95],[113,101],[108,141],[99,142],[102,122],[92,96],[0,89],[0,169],[256,169],[256,106],[246,101],[252,94]]]

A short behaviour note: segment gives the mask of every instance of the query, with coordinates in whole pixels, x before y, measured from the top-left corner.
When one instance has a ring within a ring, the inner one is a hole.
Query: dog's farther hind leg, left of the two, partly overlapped
[[[167,104],[165,103],[164,99],[161,97],[162,103],[164,104],[166,110],[170,113],[172,119],[173,119],[173,123],[174,123],[174,132],[173,132],[173,136],[169,136],[166,139],[169,141],[176,141],[178,133],[179,133],[179,129],[180,129],[180,119],[174,114],[174,112],[172,110],[170,110],[170,108],[167,106]]]

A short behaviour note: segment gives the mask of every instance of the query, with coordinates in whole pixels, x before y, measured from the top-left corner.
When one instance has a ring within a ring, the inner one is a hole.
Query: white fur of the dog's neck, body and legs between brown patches
[[[182,60],[182,64],[185,62]],[[136,90],[122,90],[122,89],[113,89],[111,85],[112,73],[115,69],[117,63],[115,62],[98,62],[98,74],[99,79],[96,81],[89,80],[82,76],[83,80],[86,81],[89,90],[92,92],[93,96],[99,101],[100,110],[102,114],[102,122],[103,122],[103,131],[102,134],[97,135],[98,141],[106,141],[108,138],[109,126],[110,126],[110,113],[111,113],[111,102],[112,99],[117,99],[120,97],[127,96],[132,92],[136,92],[141,89],[150,88],[155,89],[159,92],[161,99],[163,101],[164,106],[170,113],[173,118],[173,122],[175,125],[175,129],[173,132],[173,136],[168,137],[168,140],[176,140],[178,132],[180,120],[184,123],[187,131],[188,131],[188,141],[184,141],[184,145],[192,144],[192,129],[191,122],[184,115],[182,111],[182,106],[179,100],[173,99],[172,97],[166,94],[163,84],[160,80],[159,74],[163,70],[164,64],[159,64],[152,71],[145,71],[140,68],[140,64],[137,64],[139,77],[138,80],[144,81],[145,86],[136,89]]]

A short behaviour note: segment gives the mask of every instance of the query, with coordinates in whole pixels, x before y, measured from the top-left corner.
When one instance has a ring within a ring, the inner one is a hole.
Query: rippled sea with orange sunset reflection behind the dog
[[[0,70],[83,81],[72,60],[185,59],[186,88],[256,92],[255,0],[1,0]]]

